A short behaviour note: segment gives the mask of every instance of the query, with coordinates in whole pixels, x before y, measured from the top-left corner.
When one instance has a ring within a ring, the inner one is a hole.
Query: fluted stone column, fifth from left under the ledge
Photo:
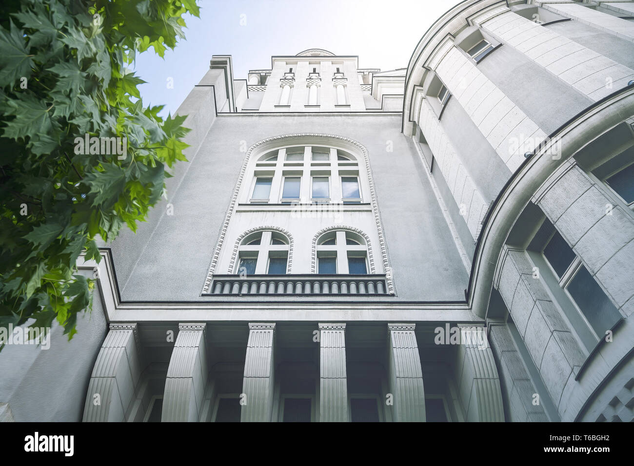
[[[389,389],[394,422],[425,422],[425,389],[415,324],[387,324]]]

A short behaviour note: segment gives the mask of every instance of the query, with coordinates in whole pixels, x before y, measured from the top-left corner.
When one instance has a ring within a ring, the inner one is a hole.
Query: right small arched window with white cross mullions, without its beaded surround
[[[318,274],[368,274],[368,244],[358,233],[331,230],[317,239]]]

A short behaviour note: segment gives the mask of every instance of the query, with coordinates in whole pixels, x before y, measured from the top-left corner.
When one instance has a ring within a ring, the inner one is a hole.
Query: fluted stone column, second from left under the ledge
[[[209,376],[207,324],[179,324],[167,368],[161,422],[198,422]]]

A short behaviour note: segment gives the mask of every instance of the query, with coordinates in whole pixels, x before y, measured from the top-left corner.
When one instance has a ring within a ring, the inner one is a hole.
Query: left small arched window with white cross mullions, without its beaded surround
[[[290,240],[275,230],[257,230],[239,241],[235,274],[283,275],[288,273]]]

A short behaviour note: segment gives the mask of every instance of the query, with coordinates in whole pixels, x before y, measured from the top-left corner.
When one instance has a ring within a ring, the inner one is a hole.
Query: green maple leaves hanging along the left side
[[[91,309],[81,253],[136,230],[186,160],[184,116],[143,106],[136,53],[183,38],[195,0],[9,0],[0,12],[0,325],[50,327],[70,339]],[[126,157],[76,150],[75,138],[126,137]],[[79,153],[77,153],[79,152]],[[1,347],[0,347],[1,349]]]

